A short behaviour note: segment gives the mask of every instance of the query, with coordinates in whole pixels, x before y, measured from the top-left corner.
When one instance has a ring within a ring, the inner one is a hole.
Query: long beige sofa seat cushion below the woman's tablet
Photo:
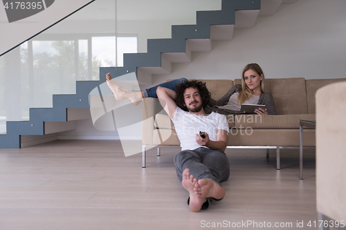
[[[235,128],[299,128],[299,120],[315,120],[314,114],[300,115],[258,115],[242,114],[235,116]]]

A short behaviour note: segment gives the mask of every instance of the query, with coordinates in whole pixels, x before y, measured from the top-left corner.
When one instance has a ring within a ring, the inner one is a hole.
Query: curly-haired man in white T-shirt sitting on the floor
[[[212,198],[221,200],[226,194],[219,183],[228,180],[230,174],[224,153],[229,133],[227,119],[204,112],[210,93],[202,82],[184,82],[175,91],[158,87],[156,93],[181,142],[174,164],[181,184],[190,193],[190,210],[208,209]]]

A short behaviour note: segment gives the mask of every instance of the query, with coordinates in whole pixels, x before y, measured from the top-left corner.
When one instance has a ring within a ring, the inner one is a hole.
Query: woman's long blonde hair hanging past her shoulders
[[[248,101],[251,97],[253,97],[253,90],[248,88],[248,86],[245,83],[244,79],[244,74],[247,70],[254,70],[258,75],[263,75],[262,81],[261,81],[261,91],[262,93],[265,93],[264,91],[264,73],[262,68],[256,64],[256,63],[251,63],[247,64],[243,70],[243,75],[242,75],[242,90],[239,90],[239,95],[238,95],[238,104],[241,105],[244,102]]]

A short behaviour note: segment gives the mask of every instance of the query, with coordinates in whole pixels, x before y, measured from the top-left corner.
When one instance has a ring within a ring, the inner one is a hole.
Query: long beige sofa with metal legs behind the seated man
[[[275,148],[277,169],[280,169],[280,148],[299,146],[299,120],[316,119],[315,93],[318,88],[345,79],[286,78],[266,79],[266,93],[271,93],[277,115],[227,115],[230,125],[228,148]],[[213,99],[221,98],[241,79],[202,80]],[[180,145],[174,125],[163,111],[158,99],[145,98],[143,112],[143,153],[149,148]],[[304,128],[304,146],[316,146],[315,130]],[[159,148],[158,148],[159,155]],[[268,156],[268,151],[267,151]]]

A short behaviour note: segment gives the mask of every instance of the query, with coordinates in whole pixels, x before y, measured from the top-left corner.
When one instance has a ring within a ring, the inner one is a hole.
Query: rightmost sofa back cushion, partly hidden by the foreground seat
[[[346,78],[340,79],[308,79],[307,84],[307,112],[316,113],[316,99],[315,94],[322,86],[327,86],[332,83],[346,81]]]

